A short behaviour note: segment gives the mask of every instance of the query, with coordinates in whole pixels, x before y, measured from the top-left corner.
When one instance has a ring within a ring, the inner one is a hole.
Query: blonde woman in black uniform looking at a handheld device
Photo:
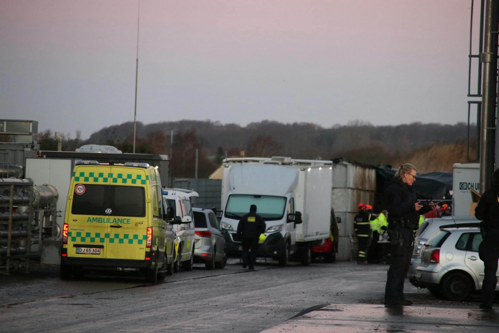
[[[434,209],[433,202],[423,206],[416,200],[411,188],[415,180],[416,167],[406,163],[399,167],[394,178],[385,183],[388,234],[392,245],[385,287],[385,305],[388,306],[412,304],[404,298],[404,282],[414,249],[414,230],[419,228],[419,216]]]

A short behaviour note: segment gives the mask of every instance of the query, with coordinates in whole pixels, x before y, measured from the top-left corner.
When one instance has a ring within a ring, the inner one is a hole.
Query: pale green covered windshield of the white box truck
[[[284,216],[286,198],[268,195],[233,194],[229,196],[227,201],[225,217],[239,220],[243,215],[250,212],[251,205],[256,205],[256,213],[265,220],[280,220]]]

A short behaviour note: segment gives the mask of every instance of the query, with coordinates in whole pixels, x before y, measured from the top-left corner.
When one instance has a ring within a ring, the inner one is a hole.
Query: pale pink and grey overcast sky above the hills
[[[84,138],[132,121],[137,4],[0,0],[1,117]],[[142,0],[137,119],[466,121],[470,6]]]

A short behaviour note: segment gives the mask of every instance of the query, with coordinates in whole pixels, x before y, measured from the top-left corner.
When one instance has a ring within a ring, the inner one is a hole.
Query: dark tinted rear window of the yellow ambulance
[[[145,190],[139,186],[84,184],[82,194],[73,193],[75,215],[146,216]]]

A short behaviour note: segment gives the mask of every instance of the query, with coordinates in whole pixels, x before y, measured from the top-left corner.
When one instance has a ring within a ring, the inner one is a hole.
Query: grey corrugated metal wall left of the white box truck
[[[220,209],[222,201],[222,179],[175,178],[173,187],[196,191],[199,198],[193,198],[193,206]]]

